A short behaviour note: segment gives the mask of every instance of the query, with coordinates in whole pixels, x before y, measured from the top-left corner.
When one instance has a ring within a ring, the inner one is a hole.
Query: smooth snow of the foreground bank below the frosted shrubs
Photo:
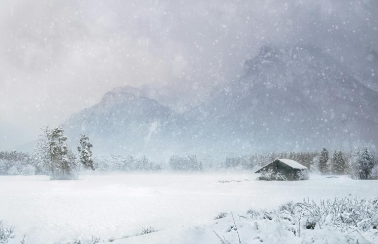
[[[322,229],[301,230],[301,237],[295,236],[290,230],[287,220],[252,220],[234,216],[242,244],[374,244],[377,243],[378,230],[361,235],[359,232],[345,234],[330,226]],[[221,244],[214,231],[229,244],[238,244],[238,235],[230,227],[233,219],[228,216],[221,220],[208,221],[206,225],[178,227],[158,231],[143,236],[133,236],[106,244]],[[256,229],[256,226],[258,229]],[[232,229],[230,231],[230,229]],[[359,242],[347,242],[347,239],[358,238]],[[364,242],[365,241],[365,242]]]

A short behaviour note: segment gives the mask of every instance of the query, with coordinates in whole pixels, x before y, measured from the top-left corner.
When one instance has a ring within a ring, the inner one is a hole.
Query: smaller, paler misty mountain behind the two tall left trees
[[[176,113],[132,87],[115,88],[63,122],[71,142],[90,137],[103,153],[159,152],[180,136]],[[170,146],[174,149],[174,146]]]

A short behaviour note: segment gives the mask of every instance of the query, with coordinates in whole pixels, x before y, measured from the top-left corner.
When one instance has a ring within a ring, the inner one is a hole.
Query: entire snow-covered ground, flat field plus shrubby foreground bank
[[[377,242],[378,199],[370,197],[377,194],[377,181],[318,175],[306,181],[257,181],[255,176],[143,173],[73,181],[3,177],[1,183],[10,180],[13,185],[12,192],[0,189],[9,196],[1,202],[4,208],[14,205],[12,199],[29,199],[18,202],[18,209],[0,209],[7,220],[3,236],[15,236],[7,238],[9,244],[19,243],[24,233],[31,244],[208,244],[220,243],[218,236],[228,244],[239,243],[239,237],[252,244]],[[62,208],[72,216],[62,214]],[[55,224],[50,228],[40,228],[51,221]],[[40,229],[34,233],[35,228]]]

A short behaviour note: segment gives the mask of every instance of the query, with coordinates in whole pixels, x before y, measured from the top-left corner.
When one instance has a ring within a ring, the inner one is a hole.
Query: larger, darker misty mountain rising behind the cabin
[[[241,78],[185,117],[198,118],[193,135],[225,148],[340,148],[377,141],[377,105],[377,92],[320,49],[264,46]]]

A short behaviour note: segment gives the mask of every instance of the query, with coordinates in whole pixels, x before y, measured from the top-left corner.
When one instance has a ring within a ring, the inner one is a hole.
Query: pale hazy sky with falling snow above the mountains
[[[263,44],[377,50],[374,0],[1,0],[0,150],[116,86],[212,87]]]

